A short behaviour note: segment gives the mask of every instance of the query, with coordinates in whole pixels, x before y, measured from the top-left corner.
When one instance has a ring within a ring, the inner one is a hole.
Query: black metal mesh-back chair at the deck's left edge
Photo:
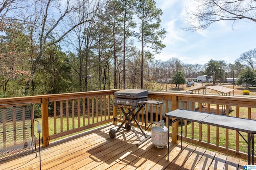
[[[39,147],[36,149],[34,124],[37,122]],[[0,161],[16,156],[39,152],[40,167],[40,123],[34,119],[32,103],[0,105]]]

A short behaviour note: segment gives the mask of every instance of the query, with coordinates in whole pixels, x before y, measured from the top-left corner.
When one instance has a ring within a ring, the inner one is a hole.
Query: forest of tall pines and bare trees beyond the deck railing
[[[166,34],[154,0],[6,0],[0,15],[0,98],[154,90],[158,79],[177,71],[196,78],[210,64],[154,60]],[[216,61],[218,79],[238,77],[255,54],[234,64]]]

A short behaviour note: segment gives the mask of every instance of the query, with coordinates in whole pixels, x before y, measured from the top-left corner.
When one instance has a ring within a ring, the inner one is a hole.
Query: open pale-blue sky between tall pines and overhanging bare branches
[[[211,59],[234,64],[240,55],[256,48],[256,22],[240,20],[233,25],[219,21],[205,30],[185,31],[185,9],[191,0],[155,0],[163,11],[162,28],[167,31],[162,52],[156,60],[177,58],[184,64],[205,64]]]

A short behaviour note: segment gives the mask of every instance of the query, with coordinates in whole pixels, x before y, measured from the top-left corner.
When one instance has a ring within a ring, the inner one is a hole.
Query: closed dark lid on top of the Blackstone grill
[[[116,98],[140,99],[148,97],[148,90],[143,89],[125,89],[114,92]]]

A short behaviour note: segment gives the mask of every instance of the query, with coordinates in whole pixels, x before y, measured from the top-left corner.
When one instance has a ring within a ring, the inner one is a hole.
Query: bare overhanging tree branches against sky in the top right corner
[[[187,30],[206,29],[216,21],[236,22],[246,19],[256,22],[256,0],[194,0],[196,10],[188,9]]]

